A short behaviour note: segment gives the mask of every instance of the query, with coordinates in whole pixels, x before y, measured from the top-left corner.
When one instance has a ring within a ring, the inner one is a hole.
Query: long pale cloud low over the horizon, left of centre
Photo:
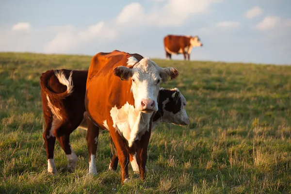
[[[83,31],[77,30],[73,26],[67,26],[67,28],[61,29],[53,40],[46,44],[44,51],[47,53],[67,52],[90,41],[98,43],[104,39],[112,40],[115,37],[116,32],[107,27],[103,21],[91,25]]]

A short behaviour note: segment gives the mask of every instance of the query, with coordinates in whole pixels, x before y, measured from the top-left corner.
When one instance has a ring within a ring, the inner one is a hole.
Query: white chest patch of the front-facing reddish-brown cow
[[[113,120],[113,127],[128,141],[129,147],[131,147],[133,142],[140,139],[148,130],[152,113],[137,112],[127,102],[120,109],[114,106],[110,115]]]

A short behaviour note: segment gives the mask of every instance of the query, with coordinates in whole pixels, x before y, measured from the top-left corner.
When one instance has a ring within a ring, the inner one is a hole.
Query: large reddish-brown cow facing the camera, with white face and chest
[[[109,129],[118,152],[124,181],[129,177],[129,155],[136,155],[140,176],[146,178],[147,146],[153,113],[158,111],[159,86],[178,76],[173,67],[159,67],[150,58],[114,50],[98,53],[90,65],[86,84],[85,107],[88,131],[89,173],[97,174],[95,156],[99,127]],[[99,69],[96,74],[94,69]]]

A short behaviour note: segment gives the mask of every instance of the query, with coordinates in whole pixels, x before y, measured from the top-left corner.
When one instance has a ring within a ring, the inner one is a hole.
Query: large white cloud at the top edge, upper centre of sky
[[[140,3],[125,6],[116,18],[117,24],[182,26],[192,15],[205,13],[213,3],[222,0],[168,0],[162,7],[146,13]]]

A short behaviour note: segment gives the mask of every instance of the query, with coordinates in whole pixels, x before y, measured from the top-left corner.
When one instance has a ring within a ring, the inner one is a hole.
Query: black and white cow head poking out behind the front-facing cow
[[[171,90],[160,88],[159,112],[153,118],[154,126],[160,122],[188,125],[190,119],[185,110],[186,103],[178,88]]]

